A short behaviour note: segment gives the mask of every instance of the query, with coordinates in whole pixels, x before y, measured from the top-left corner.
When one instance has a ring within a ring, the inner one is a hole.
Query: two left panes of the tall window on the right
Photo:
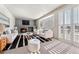
[[[71,40],[71,9],[60,11],[59,20],[59,38]]]

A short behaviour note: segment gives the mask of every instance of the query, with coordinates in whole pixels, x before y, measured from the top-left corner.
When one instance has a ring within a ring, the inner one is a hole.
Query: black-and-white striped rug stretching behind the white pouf
[[[27,46],[28,45],[28,40],[29,39],[35,39],[35,38],[40,40],[41,43],[50,41],[48,39],[45,39],[45,38],[37,36],[37,35],[32,35],[32,36],[17,35],[15,40],[13,41],[13,43],[12,44],[7,44],[6,47],[3,49],[3,51],[10,50],[10,49],[15,49],[15,48],[23,47],[23,46]]]

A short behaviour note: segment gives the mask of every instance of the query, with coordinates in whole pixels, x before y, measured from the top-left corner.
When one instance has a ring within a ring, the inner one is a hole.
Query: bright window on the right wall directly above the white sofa
[[[48,18],[42,19],[40,22],[41,28],[44,30],[53,29],[54,17],[49,16]],[[51,26],[52,25],[52,26]]]

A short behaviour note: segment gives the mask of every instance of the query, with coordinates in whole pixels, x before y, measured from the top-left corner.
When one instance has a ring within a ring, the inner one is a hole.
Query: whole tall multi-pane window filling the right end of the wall
[[[70,7],[60,11],[58,20],[59,38],[79,43],[79,7]]]

